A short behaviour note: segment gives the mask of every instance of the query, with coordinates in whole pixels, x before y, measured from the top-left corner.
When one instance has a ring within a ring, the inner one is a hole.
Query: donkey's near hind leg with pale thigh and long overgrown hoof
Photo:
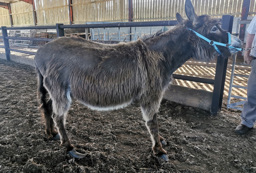
[[[67,131],[65,129],[65,116],[70,108],[71,101],[67,99],[65,100],[66,103],[63,104],[59,102],[53,101],[53,120],[60,135],[60,146],[65,146],[67,148],[68,154],[70,154],[74,158],[84,158],[86,155],[76,152],[74,146],[71,144],[71,141],[68,137]],[[64,106],[63,106],[64,105]]]

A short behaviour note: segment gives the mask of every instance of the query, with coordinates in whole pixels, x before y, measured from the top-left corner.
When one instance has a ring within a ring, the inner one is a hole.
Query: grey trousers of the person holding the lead
[[[241,113],[241,124],[253,127],[256,121],[256,59],[251,62],[252,71],[247,82],[247,99]]]

